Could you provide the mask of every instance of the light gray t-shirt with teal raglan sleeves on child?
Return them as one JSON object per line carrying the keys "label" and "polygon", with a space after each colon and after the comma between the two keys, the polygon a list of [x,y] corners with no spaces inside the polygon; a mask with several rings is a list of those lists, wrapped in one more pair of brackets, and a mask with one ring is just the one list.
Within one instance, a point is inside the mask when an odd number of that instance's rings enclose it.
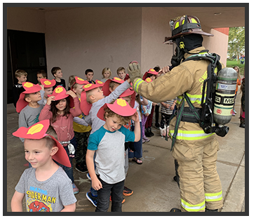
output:
{"label": "light gray t-shirt with teal raglan sleeves on child", "polygon": [[124,143],[134,142],[135,134],[121,126],[110,132],[103,126],[89,137],[87,149],[95,150],[95,173],[107,184],[116,184],[126,178]]}

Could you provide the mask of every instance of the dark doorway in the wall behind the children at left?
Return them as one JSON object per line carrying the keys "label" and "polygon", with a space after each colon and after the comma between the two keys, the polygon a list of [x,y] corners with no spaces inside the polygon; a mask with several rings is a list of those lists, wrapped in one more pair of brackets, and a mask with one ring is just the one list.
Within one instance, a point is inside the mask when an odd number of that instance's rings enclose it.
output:
{"label": "dark doorway in the wall behind the children at left", "polygon": [[45,35],[37,32],[7,30],[7,103],[13,102],[17,69],[27,72],[27,81],[38,83],[36,72],[47,72]]}

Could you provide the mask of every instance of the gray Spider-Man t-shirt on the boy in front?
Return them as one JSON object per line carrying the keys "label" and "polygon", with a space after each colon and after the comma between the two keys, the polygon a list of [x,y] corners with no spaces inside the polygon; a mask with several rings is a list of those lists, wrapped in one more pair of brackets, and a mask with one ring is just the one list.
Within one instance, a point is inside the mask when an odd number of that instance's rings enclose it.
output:
{"label": "gray Spider-Man t-shirt on the boy in front", "polygon": [[36,180],[35,173],[35,168],[26,169],[15,187],[25,194],[27,212],[60,212],[65,205],[76,203],[72,182],[61,167],[43,182]]}

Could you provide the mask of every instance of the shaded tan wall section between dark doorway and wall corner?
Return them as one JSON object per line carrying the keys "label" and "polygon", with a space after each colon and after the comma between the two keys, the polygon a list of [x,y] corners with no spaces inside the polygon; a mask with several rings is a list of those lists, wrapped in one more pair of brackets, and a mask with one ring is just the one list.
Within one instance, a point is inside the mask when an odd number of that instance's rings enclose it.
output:
{"label": "shaded tan wall section between dark doorway and wall corner", "polygon": [[102,79],[102,69],[109,67],[116,76],[118,67],[140,61],[141,8],[76,8],[46,13],[46,55],[48,72],[62,68],[69,75],[85,78],[93,69],[95,79]]}

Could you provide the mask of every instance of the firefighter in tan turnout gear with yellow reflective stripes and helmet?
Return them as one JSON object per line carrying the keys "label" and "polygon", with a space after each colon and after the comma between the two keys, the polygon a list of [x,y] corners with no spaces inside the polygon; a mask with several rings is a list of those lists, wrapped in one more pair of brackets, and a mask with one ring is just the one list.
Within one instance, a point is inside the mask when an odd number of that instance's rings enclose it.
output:
{"label": "firefighter in tan turnout gear with yellow reflective stripes and helmet", "polygon": [[[204,212],[222,208],[222,185],[216,170],[219,144],[215,133],[205,133],[193,116],[187,100],[201,112],[203,81],[207,78],[208,60],[182,60],[191,55],[207,53],[202,46],[203,36],[213,36],[203,32],[196,16],[183,15],[170,20],[172,36],[168,41],[176,45],[171,60],[173,69],[155,81],[142,80],[140,65],[131,62],[128,74],[136,93],[154,102],[163,102],[178,97],[177,116],[170,121],[169,135],[173,140],[172,155],[177,160],[177,172],[180,176],[181,209],[171,212]],[[166,67],[163,69],[165,70]],[[185,95],[189,99],[185,100]],[[187,98],[186,97],[186,98]],[[176,126],[179,109],[184,107],[188,116],[182,116]],[[175,143],[174,143],[175,142]]]}

